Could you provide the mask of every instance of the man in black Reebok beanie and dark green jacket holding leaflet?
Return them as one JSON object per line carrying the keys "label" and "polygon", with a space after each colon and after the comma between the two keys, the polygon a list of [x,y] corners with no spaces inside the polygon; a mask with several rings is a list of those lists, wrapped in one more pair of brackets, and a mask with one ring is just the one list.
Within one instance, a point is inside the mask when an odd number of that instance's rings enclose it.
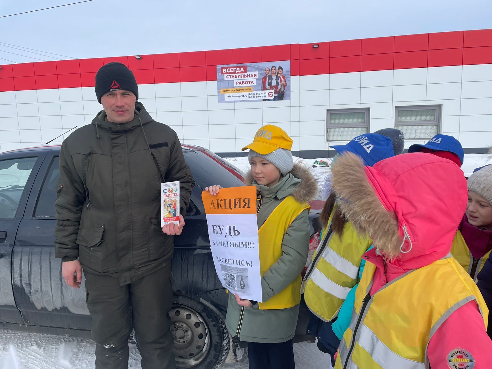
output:
{"label": "man in black Reebok beanie and dark green jacket holding leaflet", "polygon": [[[168,311],[173,235],[195,184],[180,141],[137,102],[121,63],[95,77],[103,109],[62,143],[55,253],[79,288],[84,269],[96,369],[128,368],[128,337],[141,339],[142,368],[175,368]],[[160,183],[180,181],[180,222],[160,227]]]}

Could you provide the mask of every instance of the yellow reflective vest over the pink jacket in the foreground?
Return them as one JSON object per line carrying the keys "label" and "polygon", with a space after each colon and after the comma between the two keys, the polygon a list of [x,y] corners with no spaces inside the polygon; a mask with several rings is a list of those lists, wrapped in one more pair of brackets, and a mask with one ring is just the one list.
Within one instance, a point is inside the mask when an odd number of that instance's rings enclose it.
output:
{"label": "yellow reflective vest over the pink jacket in the foreground", "polygon": [[427,369],[427,345],[449,315],[470,301],[489,311],[476,284],[449,254],[396,278],[370,296],[376,267],[366,263],[335,369]]}

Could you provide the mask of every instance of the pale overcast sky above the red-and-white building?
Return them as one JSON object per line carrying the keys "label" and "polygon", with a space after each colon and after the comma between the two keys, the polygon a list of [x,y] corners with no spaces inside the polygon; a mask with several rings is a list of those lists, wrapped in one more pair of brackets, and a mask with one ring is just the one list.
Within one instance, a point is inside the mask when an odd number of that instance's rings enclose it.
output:
{"label": "pale overcast sky above the red-and-white building", "polygon": [[[76,1],[0,0],[0,16]],[[477,30],[491,14],[491,0],[92,0],[0,18],[0,58],[56,60],[1,43],[81,59]]]}

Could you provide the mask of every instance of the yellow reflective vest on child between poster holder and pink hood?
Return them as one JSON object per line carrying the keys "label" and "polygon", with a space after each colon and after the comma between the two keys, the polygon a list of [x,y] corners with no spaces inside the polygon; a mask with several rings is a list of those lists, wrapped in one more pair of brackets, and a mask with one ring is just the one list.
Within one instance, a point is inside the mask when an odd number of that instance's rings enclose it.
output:
{"label": "yellow reflective vest on child between poster holder and pink hood", "polygon": [[369,237],[357,235],[350,222],[345,223],[342,236],[338,237],[332,229],[335,209],[336,205],[301,289],[309,310],[326,322],[338,315],[347,294],[357,284],[361,258],[372,245]]}

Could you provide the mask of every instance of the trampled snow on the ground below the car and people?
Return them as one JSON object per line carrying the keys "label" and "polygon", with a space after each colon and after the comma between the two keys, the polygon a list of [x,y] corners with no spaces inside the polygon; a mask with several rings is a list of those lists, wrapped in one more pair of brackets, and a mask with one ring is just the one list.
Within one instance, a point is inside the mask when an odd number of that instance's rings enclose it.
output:
{"label": "trampled snow on the ground below the car and people", "polygon": [[[94,368],[94,354],[90,339],[0,330],[0,369],[90,369]],[[314,343],[295,343],[294,356],[297,368],[330,369],[328,355]],[[128,368],[140,369],[134,344],[130,344]],[[247,359],[220,368],[247,369]]]}

